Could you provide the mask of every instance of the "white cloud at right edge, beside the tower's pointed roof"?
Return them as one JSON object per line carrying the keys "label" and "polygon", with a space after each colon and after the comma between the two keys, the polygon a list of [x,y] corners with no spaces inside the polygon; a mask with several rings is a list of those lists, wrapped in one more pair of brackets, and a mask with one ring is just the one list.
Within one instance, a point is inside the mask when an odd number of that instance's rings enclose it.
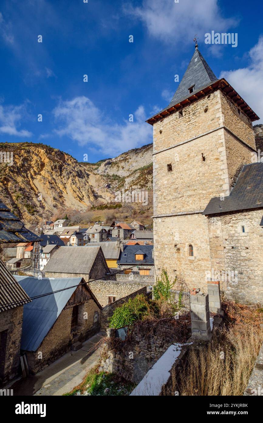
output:
{"label": "white cloud at right edge, beside the tower's pointed roof", "polygon": [[263,123],[263,36],[249,51],[249,65],[246,68],[222,71],[220,78],[225,78],[254,110]]}

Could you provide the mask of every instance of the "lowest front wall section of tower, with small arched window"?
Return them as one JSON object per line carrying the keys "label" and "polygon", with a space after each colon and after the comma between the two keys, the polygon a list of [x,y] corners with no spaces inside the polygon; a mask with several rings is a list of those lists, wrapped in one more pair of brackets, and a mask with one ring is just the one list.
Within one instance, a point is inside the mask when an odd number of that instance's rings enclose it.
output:
{"label": "lowest front wall section of tower, with small arched window", "polygon": [[[189,288],[200,286],[206,292],[206,272],[210,270],[207,219],[202,214],[160,217],[154,220],[155,271],[164,266],[168,275],[182,276]],[[193,245],[193,257],[189,256]]]}

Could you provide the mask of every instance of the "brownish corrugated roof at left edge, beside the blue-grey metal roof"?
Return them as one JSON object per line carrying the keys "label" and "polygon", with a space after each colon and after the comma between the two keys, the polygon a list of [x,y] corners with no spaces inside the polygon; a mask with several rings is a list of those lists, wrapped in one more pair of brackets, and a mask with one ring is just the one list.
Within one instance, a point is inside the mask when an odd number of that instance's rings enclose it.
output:
{"label": "brownish corrugated roof at left edge, beside the blue-grey metal roof", "polygon": [[[10,310],[11,308],[18,307],[30,301],[28,295],[3,264],[3,261],[0,260],[0,312]],[[15,302],[15,304],[8,306],[4,305],[9,302]]]}

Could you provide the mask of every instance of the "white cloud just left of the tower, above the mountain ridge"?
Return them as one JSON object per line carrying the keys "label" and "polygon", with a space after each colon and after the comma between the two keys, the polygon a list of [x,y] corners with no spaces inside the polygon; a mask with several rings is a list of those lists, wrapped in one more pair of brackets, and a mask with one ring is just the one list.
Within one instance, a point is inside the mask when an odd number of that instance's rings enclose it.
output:
{"label": "white cloud just left of the tower, above the mountain ridge", "polygon": [[133,122],[129,122],[127,116],[122,124],[112,122],[85,96],[60,101],[53,113],[60,122],[59,129],[55,130],[58,135],[66,135],[79,146],[96,148],[107,155],[115,156],[152,142],[152,128],[145,123],[143,106],[134,112]]}

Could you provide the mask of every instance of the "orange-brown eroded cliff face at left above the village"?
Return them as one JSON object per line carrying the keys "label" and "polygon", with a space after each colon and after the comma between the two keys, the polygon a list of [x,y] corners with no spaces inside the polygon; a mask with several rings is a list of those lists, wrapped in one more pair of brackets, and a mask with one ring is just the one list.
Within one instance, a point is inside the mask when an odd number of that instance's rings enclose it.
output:
{"label": "orange-brown eroded cliff face at left above the village", "polygon": [[[106,180],[69,154],[33,143],[2,143],[0,198],[26,222],[41,221],[59,209],[87,210],[115,198]],[[9,154],[8,154],[9,153]]]}

